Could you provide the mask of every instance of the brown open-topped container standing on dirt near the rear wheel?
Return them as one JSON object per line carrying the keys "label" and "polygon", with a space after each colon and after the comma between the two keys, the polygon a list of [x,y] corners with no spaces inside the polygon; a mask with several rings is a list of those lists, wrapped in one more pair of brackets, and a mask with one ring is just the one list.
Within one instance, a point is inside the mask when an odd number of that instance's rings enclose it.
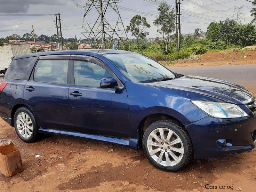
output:
{"label": "brown open-topped container standing on dirt near the rear wheel", "polygon": [[0,146],[0,170],[6,177],[23,171],[20,150],[11,141]]}

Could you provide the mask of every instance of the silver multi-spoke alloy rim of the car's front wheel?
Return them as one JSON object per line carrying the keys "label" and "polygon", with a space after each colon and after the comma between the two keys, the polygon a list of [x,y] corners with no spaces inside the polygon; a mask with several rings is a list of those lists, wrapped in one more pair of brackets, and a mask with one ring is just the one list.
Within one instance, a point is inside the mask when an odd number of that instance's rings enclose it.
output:
{"label": "silver multi-spoke alloy rim of the car's front wheel", "polygon": [[184,154],[184,147],[177,133],[168,128],[157,128],[153,130],[147,140],[148,153],[163,166],[174,166],[178,164]]}

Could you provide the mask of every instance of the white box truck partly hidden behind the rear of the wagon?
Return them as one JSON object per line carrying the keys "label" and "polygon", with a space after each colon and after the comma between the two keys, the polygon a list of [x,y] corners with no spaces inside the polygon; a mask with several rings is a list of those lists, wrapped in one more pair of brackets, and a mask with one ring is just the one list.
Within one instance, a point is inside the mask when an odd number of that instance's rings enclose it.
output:
{"label": "white box truck partly hidden behind the rear of the wagon", "polygon": [[9,44],[0,46],[0,73],[5,73],[10,63],[11,57],[31,53],[29,44]]}

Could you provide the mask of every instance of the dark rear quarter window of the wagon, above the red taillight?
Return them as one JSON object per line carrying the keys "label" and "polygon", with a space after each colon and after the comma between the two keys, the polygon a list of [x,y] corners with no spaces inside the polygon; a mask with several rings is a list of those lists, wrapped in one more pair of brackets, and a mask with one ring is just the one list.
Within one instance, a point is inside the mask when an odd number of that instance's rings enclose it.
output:
{"label": "dark rear quarter window of the wagon, above the red taillight", "polygon": [[12,60],[4,79],[28,80],[38,57]]}

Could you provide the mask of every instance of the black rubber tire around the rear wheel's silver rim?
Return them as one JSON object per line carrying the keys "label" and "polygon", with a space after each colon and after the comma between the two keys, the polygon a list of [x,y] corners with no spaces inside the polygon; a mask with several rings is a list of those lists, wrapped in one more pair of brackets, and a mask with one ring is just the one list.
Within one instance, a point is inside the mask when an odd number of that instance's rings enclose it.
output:
{"label": "black rubber tire around the rear wheel's silver rim", "polygon": [[[23,137],[20,134],[20,132],[18,131],[18,128],[17,128],[17,123],[16,123],[17,122],[17,117],[21,112],[24,112],[24,113],[28,114],[30,120],[32,121],[33,129],[32,129],[32,133],[31,133],[30,137],[28,137],[28,138]],[[32,114],[32,112],[27,107],[18,108],[17,111],[15,112],[15,114],[14,114],[14,128],[15,128],[15,132],[17,133],[19,138],[21,140],[23,140],[24,142],[31,143],[31,142],[34,142],[34,141],[39,139],[39,133],[38,133],[38,127],[37,127],[37,124],[36,124],[36,119],[35,119],[34,115]]]}

